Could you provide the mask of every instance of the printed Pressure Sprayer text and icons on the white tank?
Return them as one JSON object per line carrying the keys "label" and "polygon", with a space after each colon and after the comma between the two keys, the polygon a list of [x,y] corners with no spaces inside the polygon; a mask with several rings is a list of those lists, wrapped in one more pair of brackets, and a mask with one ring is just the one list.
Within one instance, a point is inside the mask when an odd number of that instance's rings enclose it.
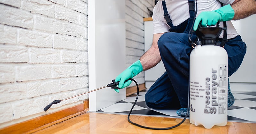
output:
{"label": "printed Pressure Sprayer text and icons on the white tank", "polygon": [[[211,76],[205,78],[204,84],[190,81],[190,99],[196,100],[197,98],[204,98],[203,100],[205,100],[205,114],[225,114],[227,112],[226,92],[226,65],[219,65],[218,69],[212,68]],[[195,109],[193,109],[192,112],[195,112]]]}

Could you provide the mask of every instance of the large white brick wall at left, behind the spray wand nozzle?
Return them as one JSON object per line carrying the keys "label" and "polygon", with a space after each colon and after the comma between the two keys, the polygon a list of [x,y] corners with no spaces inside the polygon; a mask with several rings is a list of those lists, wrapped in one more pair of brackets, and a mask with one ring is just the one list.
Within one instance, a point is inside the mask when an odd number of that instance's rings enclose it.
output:
{"label": "large white brick wall at left, behind the spray wand nozzle", "polygon": [[0,128],[88,99],[43,110],[88,91],[87,0],[0,0],[0,9]]}

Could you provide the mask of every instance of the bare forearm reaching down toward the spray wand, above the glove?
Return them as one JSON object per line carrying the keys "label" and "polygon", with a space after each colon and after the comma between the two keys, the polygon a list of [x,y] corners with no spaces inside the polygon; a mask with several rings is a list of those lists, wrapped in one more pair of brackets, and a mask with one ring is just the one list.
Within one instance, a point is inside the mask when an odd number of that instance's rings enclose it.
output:
{"label": "bare forearm reaching down toward the spray wand, above the glove", "polygon": [[142,64],[143,71],[156,66],[161,61],[157,42],[160,36],[163,34],[164,33],[154,34],[151,48],[149,48],[148,51],[140,57],[140,63]]}

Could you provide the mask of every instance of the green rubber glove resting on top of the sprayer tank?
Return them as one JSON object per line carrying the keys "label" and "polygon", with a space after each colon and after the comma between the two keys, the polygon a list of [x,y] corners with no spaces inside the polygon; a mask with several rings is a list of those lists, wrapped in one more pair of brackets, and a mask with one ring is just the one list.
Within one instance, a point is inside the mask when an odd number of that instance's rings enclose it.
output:
{"label": "green rubber glove resting on top of the sprayer tank", "polygon": [[232,20],[234,15],[235,11],[231,7],[231,5],[225,5],[214,11],[201,12],[195,20],[193,29],[194,31],[197,30],[200,21],[202,21],[201,25],[203,27],[214,26],[217,24],[218,21]]}

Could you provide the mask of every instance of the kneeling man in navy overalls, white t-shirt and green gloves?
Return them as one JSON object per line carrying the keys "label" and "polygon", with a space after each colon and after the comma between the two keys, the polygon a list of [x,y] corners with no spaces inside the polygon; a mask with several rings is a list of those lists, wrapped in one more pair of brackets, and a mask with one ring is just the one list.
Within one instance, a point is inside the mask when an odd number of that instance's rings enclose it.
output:
{"label": "kneeling man in navy overalls, white t-shirt and green gloves", "polygon": [[[221,6],[221,3],[224,6]],[[191,43],[188,34],[198,25],[214,26],[218,21],[227,21],[227,38],[224,49],[228,53],[228,77],[241,65],[246,52],[242,41],[230,20],[237,20],[256,14],[255,0],[198,0],[197,14],[193,25],[195,10],[194,0],[159,1],[153,10],[154,35],[151,48],[138,61],[116,77],[120,81],[118,87],[125,88],[141,71],[148,70],[161,60],[166,72],[158,78],[145,95],[148,107],[154,109],[186,110],[188,104],[189,55]],[[163,16],[164,15],[164,16]],[[168,16],[169,15],[169,16]],[[223,27],[223,23],[220,23]],[[217,39],[222,41],[223,34]],[[196,36],[191,36],[193,41]],[[229,82],[228,82],[229,85]],[[119,92],[118,90],[116,90]],[[228,107],[234,103],[234,97],[228,89]]]}

